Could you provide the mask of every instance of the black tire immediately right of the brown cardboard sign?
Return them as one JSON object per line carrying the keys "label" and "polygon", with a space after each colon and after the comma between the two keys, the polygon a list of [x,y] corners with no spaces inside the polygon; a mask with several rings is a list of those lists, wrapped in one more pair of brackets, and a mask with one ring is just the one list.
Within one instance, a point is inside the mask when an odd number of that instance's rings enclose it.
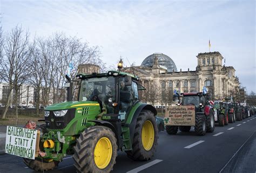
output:
{"label": "black tire immediately right of the brown cardboard sign", "polygon": [[206,134],[206,117],[204,114],[196,114],[196,125],[194,126],[194,131],[200,136],[204,136]]}

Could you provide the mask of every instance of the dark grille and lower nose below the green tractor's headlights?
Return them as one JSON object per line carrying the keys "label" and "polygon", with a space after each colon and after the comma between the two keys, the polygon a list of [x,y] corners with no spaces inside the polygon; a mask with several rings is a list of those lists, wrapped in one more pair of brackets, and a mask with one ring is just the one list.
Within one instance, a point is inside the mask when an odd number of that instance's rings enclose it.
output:
{"label": "dark grille and lower nose below the green tractor's headlights", "polygon": [[66,115],[56,117],[53,111],[50,111],[50,115],[45,117],[45,124],[48,129],[64,129],[68,123],[75,117],[76,108],[68,109]]}

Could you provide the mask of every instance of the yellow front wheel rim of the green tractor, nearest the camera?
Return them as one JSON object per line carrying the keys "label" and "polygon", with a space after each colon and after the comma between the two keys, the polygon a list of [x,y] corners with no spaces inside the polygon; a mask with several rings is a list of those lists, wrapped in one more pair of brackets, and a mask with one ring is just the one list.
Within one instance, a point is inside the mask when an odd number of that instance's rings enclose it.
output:
{"label": "yellow front wheel rim of the green tractor, nearest the camera", "polygon": [[109,165],[112,157],[112,144],[107,137],[98,140],[94,150],[94,161],[99,169],[104,169]]}

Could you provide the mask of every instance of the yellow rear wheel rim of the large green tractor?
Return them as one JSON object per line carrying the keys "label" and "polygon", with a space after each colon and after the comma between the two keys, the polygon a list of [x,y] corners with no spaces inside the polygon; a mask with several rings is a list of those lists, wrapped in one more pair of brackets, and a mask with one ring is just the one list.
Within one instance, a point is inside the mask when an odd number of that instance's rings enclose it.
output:
{"label": "yellow rear wheel rim of the large green tractor", "polygon": [[146,151],[151,150],[154,143],[154,127],[151,121],[144,122],[142,127],[142,145]]}

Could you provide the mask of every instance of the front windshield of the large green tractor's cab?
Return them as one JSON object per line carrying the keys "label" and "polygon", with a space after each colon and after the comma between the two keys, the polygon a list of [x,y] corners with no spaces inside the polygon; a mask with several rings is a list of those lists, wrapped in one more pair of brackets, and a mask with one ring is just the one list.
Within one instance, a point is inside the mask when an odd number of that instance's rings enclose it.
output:
{"label": "front windshield of the large green tractor's cab", "polygon": [[113,77],[89,78],[82,80],[79,101],[102,101],[116,99],[115,82]]}

